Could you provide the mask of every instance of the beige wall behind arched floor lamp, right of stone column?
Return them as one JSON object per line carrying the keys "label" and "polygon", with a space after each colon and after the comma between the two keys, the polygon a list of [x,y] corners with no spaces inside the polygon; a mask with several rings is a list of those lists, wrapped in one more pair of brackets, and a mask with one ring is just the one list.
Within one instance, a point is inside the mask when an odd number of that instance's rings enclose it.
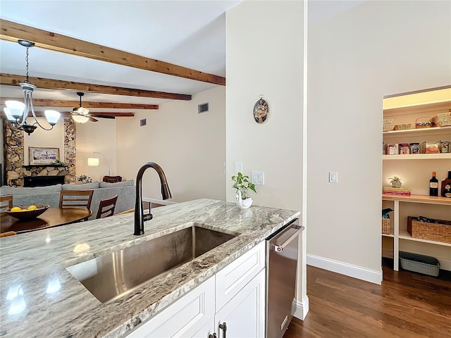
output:
{"label": "beige wall behind arched floor lamp, right of stone column", "polygon": [[[101,182],[105,175],[108,175],[108,165],[100,154],[92,154],[99,151],[108,159],[111,168],[111,176],[122,175],[116,170],[116,119],[97,118],[98,122],[75,123],[77,132],[77,148],[75,153],[75,163],[77,176],[85,174],[94,181]],[[99,158],[99,166],[89,167],[87,158]],[[124,177],[128,180],[132,177]]]}

